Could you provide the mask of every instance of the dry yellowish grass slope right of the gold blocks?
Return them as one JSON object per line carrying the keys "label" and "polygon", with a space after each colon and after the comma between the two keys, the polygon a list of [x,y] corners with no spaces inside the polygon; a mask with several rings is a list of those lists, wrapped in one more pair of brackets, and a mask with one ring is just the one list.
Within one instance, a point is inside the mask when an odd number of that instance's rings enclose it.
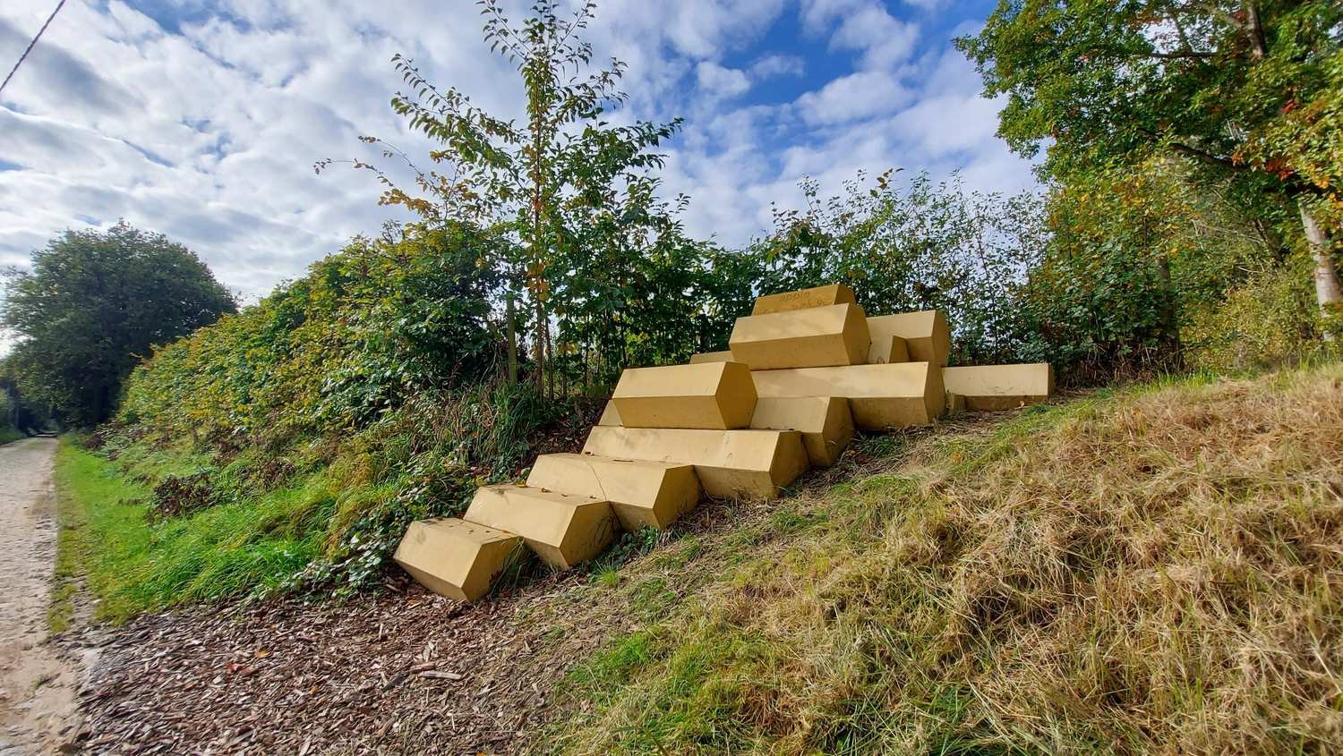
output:
{"label": "dry yellowish grass slope right of the gold blocks", "polygon": [[1343,368],[1037,408],[886,467],[594,583],[584,622],[624,632],[535,747],[1343,749]]}

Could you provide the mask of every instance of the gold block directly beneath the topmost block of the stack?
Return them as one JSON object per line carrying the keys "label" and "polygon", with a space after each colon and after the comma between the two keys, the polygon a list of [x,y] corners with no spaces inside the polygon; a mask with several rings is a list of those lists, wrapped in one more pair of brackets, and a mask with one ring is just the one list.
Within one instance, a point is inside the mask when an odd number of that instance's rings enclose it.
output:
{"label": "gold block directly beneath the topmost block of the stack", "polygon": [[833,305],[737,318],[732,357],[752,371],[860,365],[868,361],[868,321],[858,305]]}

